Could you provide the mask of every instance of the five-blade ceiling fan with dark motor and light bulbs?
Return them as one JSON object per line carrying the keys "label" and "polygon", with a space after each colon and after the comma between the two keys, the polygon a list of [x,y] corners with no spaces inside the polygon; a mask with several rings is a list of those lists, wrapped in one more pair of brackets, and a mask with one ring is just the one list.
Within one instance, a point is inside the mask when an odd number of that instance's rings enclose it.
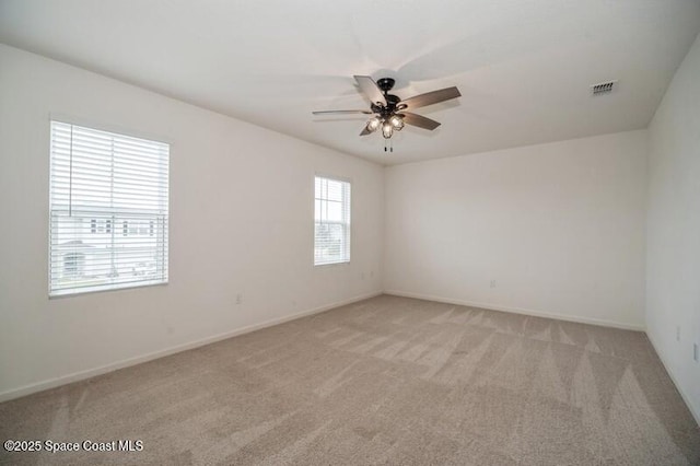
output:
{"label": "five-blade ceiling fan with dark motor and light bulbs", "polygon": [[[369,110],[318,110],[314,115],[330,114],[365,114],[373,115],[366,123],[360,136],[370,135],[382,128],[384,139],[390,139],[394,131],[400,131],[404,125],[412,125],[419,128],[433,130],[440,123],[421,115],[413,114],[413,108],[438,104],[462,96],[457,88],[445,88],[425,94],[415,95],[401,101],[398,96],[389,94],[395,81],[392,78],[382,78],[374,82],[370,77],[355,75],[354,80],[360,85],[362,93],[370,100]],[[386,149],[386,148],[385,148]]]}

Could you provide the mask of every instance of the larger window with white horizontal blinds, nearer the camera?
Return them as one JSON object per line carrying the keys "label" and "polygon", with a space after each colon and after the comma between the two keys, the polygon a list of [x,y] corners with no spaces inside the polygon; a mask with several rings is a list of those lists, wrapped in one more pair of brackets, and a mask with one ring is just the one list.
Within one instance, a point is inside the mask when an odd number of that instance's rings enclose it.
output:
{"label": "larger window with white horizontal blinds, nearer the camera", "polygon": [[167,282],[170,145],[51,121],[49,295]]}

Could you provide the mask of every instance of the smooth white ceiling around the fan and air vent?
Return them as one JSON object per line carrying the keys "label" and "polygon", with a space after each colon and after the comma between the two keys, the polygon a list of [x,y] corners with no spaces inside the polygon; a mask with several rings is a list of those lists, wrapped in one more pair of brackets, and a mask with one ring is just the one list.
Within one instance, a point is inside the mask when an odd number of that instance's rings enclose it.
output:
{"label": "smooth white ceiling around the fan and air vent", "polygon": [[[0,0],[0,42],[383,164],[644,128],[698,31],[698,0]],[[385,153],[311,114],[368,108],[353,74],[463,96]]]}

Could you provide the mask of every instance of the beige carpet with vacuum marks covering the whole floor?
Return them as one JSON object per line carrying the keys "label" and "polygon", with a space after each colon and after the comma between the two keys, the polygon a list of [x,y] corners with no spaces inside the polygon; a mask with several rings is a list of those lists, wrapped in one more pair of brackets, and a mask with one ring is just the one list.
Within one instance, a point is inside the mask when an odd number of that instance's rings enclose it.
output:
{"label": "beige carpet with vacuum marks covering the whole floor", "polygon": [[0,405],[8,464],[698,465],[642,333],[378,296]]}

